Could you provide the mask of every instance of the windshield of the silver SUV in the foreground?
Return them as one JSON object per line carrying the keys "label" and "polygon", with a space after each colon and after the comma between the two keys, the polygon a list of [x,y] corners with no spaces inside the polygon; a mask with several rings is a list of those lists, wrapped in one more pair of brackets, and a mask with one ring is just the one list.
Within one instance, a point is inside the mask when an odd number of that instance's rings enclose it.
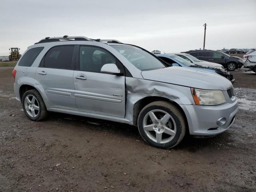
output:
{"label": "windshield of the silver SUV in the foreground", "polygon": [[166,67],[157,58],[138,47],[127,45],[112,45],[112,47],[139,70],[146,71]]}

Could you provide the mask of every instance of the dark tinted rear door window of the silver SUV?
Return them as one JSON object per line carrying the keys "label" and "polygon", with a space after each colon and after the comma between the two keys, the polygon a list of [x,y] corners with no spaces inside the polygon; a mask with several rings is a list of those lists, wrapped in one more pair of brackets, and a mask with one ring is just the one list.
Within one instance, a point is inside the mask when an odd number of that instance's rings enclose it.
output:
{"label": "dark tinted rear door window of the silver SUV", "polygon": [[44,57],[46,68],[74,70],[72,64],[74,46],[56,46],[51,48]]}

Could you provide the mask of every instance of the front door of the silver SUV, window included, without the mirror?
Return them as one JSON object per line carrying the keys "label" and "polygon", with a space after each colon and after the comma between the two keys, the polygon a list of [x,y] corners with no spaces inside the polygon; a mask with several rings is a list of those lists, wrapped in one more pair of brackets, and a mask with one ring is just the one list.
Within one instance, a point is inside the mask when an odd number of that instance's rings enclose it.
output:
{"label": "front door of the silver SUV, window included, without the mirror", "polygon": [[76,54],[74,86],[79,111],[124,118],[125,76],[104,74],[104,64],[122,64],[107,50],[94,46],[79,46]]}

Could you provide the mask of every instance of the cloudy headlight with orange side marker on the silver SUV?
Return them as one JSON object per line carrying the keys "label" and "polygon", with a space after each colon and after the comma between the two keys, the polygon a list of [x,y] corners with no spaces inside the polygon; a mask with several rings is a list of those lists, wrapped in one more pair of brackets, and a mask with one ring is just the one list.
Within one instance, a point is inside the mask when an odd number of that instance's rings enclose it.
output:
{"label": "cloudy headlight with orange side marker on the silver SUV", "polygon": [[226,102],[221,90],[203,90],[191,88],[196,105],[220,105]]}

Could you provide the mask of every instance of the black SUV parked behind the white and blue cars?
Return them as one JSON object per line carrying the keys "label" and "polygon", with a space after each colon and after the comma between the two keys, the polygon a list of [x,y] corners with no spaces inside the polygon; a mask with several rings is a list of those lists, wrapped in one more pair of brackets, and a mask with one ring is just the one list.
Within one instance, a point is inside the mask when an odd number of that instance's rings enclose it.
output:
{"label": "black SUV parked behind the white and blue cars", "polygon": [[184,53],[188,53],[199,60],[209,61],[213,63],[219,63],[224,66],[224,68],[233,71],[236,68],[241,68],[242,63],[239,62],[236,58],[229,56],[220,51],[214,50],[190,50]]}

